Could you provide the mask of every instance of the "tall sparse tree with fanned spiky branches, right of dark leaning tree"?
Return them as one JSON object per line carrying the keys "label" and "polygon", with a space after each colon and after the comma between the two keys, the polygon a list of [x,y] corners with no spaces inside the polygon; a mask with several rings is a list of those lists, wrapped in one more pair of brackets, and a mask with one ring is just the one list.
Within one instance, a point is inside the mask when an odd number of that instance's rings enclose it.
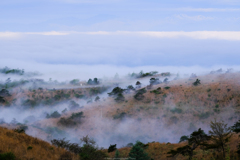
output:
{"label": "tall sparse tree with fanned spiky branches, right of dark leaning tree", "polygon": [[230,127],[227,127],[227,124],[224,121],[217,122],[216,119],[211,121],[209,135],[211,136],[211,144],[207,145],[206,149],[216,149],[219,152],[222,152],[222,156],[225,158],[225,152],[227,143],[232,136],[232,130]]}

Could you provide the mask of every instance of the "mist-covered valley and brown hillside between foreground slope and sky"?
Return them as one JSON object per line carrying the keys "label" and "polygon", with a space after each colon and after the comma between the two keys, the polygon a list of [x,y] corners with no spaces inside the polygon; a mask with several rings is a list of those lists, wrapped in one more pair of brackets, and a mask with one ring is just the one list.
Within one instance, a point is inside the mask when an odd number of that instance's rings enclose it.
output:
{"label": "mist-covered valley and brown hillside between foreground slope and sky", "polygon": [[[104,148],[137,140],[177,143],[216,118],[239,117],[239,76],[233,69],[208,73],[132,72],[86,80],[41,79],[39,72],[1,69],[0,124],[25,128],[50,142],[79,143],[88,135]],[[197,81],[199,80],[199,81]]]}

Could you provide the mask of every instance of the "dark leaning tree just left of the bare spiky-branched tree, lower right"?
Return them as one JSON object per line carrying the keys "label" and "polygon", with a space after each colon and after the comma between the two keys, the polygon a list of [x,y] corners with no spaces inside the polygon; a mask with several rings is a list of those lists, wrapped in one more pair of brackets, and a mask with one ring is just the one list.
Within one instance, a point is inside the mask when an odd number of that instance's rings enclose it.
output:
{"label": "dark leaning tree just left of the bare spiky-branched tree, lower right", "polygon": [[209,140],[209,136],[205,134],[201,128],[199,128],[198,131],[194,131],[190,135],[190,138],[182,136],[180,138],[180,142],[183,140],[187,140],[188,144],[183,147],[179,147],[176,150],[171,150],[168,152],[168,154],[171,154],[168,157],[174,157],[182,154],[183,156],[189,156],[188,159],[191,160],[193,157],[193,151],[199,146],[205,146],[206,142]]}

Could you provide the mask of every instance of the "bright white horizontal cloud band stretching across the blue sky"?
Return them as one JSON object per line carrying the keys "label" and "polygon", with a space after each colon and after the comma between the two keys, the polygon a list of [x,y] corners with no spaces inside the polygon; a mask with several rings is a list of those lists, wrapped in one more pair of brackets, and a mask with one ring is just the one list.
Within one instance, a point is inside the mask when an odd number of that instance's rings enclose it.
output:
{"label": "bright white horizontal cloud band stretching across the blue sky", "polygon": [[[199,17],[202,19],[202,17]],[[0,38],[17,38],[23,35],[43,35],[43,36],[66,36],[66,35],[121,35],[121,36],[149,36],[155,38],[192,38],[192,39],[217,39],[217,40],[240,40],[240,31],[193,31],[193,32],[132,32],[132,31],[116,31],[116,32],[0,32]]]}

